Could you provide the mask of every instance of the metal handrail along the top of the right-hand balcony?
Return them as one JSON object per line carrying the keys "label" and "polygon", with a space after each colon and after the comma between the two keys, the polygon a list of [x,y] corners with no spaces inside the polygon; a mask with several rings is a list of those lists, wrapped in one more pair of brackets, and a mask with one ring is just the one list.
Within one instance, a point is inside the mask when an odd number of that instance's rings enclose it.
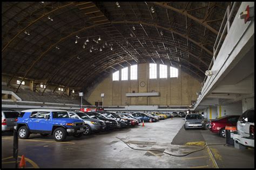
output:
{"label": "metal handrail along the top of the right-hand balcony", "polygon": [[[230,23],[230,20],[231,20],[231,18],[233,16],[234,9],[235,9],[236,5],[237,5],[237,2],[234,2],[231,11],[230,11],[230,5],[227,6],[227,9],[225,11],[225,15],[223,17],[223,21],[221,22],[221,25],[220,25],[220,29],[219,29],[217,38],[216,38],[215,43],[213,45],[213,57],[212,57],[210,65],[208,67],[208,70],[211,70],[211,68],[212,68],[212,66],[213,66],[213,64],[215,62],[215,56],[218,55],[218,52],[219,52],[219,49],[220,49],[220,42],[221,42],[221,40],[223,39],[225,33],[226,32],[228,33],[228,31],[230,30],[230,25],[232,24],[232,23]],[[227,19],[227,21],[226,21],[226,24],[225,24],[224,29],[223,29],[223,24],[224,24],[225,19]],[[222,33],[220,35],[220,32],[221,32],[222,29],[223,29],[223,31],[222,31]],[[220,36],[220,38],[219,38],[219,36]],[[217,45],[217,47],[216,47],[216,45]],[[204,80],[201,83],[200,92],[202,92],[202,90],[203,90],[203,87],[204,87],[205,81],[207,80],[207,77],[208,76],[205,76]],[[200,97],[200,94],[198,95],[196,104],[199,101],[199,97]]]}

